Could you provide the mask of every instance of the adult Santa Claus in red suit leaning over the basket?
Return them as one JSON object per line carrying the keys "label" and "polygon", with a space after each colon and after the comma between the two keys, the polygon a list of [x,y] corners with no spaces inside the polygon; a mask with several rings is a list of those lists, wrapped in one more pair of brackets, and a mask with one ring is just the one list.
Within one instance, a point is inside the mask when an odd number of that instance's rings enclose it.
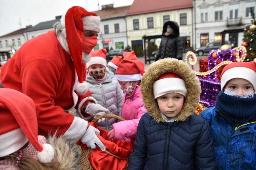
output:
{"label": "adult Santa Claus in red suit leaning over the basket", "polygon": [[105,146],[95,133],[99,131],[82,118],[69,114],[76,108],[81,114],[106,114],[108,109],[91,97],[85,63],[97,44],[100,18],[81,7],[69,8],[54,30],[24,43],[1,67],[2,87],[18,90],[36,104],[39,135],[63,135],[69,143],[81,139],[92,149]]}

